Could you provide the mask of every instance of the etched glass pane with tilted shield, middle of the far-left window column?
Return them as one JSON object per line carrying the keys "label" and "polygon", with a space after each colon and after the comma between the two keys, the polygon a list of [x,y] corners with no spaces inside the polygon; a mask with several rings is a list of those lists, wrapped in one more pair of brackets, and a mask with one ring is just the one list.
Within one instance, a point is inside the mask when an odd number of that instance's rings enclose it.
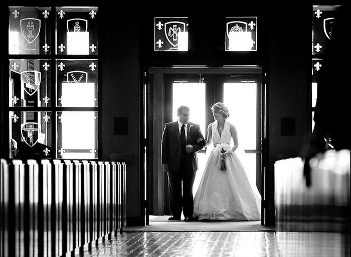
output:
{"label": "etched glass pane with tilted shield, middle of the far-left window column", "polygon": [[50,60],[9,60],[9,106],[51,106]]}

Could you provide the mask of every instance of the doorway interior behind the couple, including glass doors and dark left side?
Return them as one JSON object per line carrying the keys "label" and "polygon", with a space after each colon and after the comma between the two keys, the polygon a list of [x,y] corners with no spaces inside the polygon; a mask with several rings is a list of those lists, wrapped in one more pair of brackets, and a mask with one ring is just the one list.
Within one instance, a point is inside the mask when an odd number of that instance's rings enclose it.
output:
{"label": "doorway interior behind the couple, including glass doors and dark left side", "polygon": [[[238,130],[236,153],[243,162],[251,183],[263,195],[264,159],[262,136],[264,95],[261,67],[156,67],[149,70],[149,142],[148,185],[151,215],[169,215],[167,180],[160,163],[160,143],[165,122],[177,119],[177,108],[187,105],[190,120],[200,124],[204,136],[213,116],[210,107],[218,101],[230,110],[230,122]],[[199,170],[194,193],[206,164],[205,149],[198,153]]]}

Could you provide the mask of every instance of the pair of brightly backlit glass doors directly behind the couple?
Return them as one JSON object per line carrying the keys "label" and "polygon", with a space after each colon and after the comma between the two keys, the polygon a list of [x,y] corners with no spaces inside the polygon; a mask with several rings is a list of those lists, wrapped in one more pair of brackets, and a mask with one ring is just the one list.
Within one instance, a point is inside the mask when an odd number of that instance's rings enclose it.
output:
{"label": "pair of brightly backlit glass doors directly behind the couple", "polygon": [[[261,192],[260,75],[191,74],[165,77],[165,109],[168,110],[165,122],[177,120],[177,108],[187,105],[190,107],[190,121],[200,124],[206,138],[207,125],[214,120],[210,107],[221,101],[229,108],[228,119],[238,131],[239,148],[236,153],[250,182],[256,184]],[[206,164],[205,150],[198,153],[198,158],[194,193]]]}

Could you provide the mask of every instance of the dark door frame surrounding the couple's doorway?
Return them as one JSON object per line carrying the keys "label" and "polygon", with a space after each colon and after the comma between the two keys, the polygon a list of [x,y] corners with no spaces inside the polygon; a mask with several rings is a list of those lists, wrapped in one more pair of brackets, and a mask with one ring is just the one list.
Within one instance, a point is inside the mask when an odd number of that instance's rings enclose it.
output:
{"label": "dark door frame surrounding the couple's doorway", "polygon": [[[144,108],[147,109],[148,118],[146,121],[146,134],[147,140],[145,143],[146,147],[146,186],[147,194],[146,199],[148,202],[145,204],[147,207],[145,211],[146,220],[148,220],[148,215],[163,215],[167,210],[167,206],[164,204],[164,199],[168,197],[167,192],[163,189],[165,188],[166,178],[161,167],[160,160],[160,139],[163,131],[163,125],[166,121],[166,116],[169,116],[169,110],[166,108],[165,101],[165,78],[166,74],[181,74],[182,76],[190,76],[193,74],[231,74],[233,76],[256,74],[261,75],[261,224],[265,224],[265,218],[267,217],[267,209],[269,206],[265,204],[265,194],[267,188],[265,184],[269,176],[265,175],[268,170],[266,167],[266,83],[265,83],[265,73],[263,72],[262,66],[248,65],[248,66],[226,66],[226,67],[199,67],[199,66],[182,66],[182,67],[148,67],[147,69],[147,83],[148,87],[145,87],[146,95],[148,95],[148,100],[144,101]],[[198,78],[199,79],[199,78]],[[215,99],[213,99],[215,100]],[[213,103],[214,101],[212,101]],[[268,183],[269,184],[269,183]],[[169,208],[168,208],[169,209]],[[148,222],[147,222],[148,223]]]}

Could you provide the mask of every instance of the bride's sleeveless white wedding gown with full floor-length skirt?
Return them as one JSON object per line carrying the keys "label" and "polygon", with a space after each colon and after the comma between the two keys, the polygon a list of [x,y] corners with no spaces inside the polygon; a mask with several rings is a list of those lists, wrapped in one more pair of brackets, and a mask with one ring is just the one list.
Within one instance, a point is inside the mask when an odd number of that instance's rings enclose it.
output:
{"label": "bride's sleeveless white wedding gown with full floor-length skirt", "polygon": [[235,152],[225,159],[226,170],[221,170],[222,147],[231,151],[228,120],[221,135],[218,122],[212,124],[212,139],[215,146],[194,197],[193,216],[199,220],[260,220],[261,195],[257,187],[250,184]]}

